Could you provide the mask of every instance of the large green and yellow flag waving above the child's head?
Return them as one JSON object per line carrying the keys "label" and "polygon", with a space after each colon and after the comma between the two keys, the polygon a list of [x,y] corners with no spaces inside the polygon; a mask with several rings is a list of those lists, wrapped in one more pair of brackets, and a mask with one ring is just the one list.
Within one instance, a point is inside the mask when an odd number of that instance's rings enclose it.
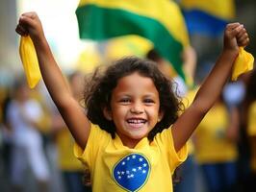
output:
{"label": "large green and yellow flag waving above the child's head", "polygon": [[81,0],[76,10],[81,38],[143,36],[185,79],[181,52],[189,36],[178,5],[170,0]]}

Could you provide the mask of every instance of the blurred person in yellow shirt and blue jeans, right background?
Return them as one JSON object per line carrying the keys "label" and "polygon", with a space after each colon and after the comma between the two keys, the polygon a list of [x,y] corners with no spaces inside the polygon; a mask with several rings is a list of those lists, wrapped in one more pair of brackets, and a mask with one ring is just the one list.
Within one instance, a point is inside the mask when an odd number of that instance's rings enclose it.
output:
{"label": "blurred person in yellow shirt and blue jeans, right background", "polygon": [[210,192],[232,191],[237,179],[238,118],[231,120],[222,99],[205,115],[193,134],[194,155]]}

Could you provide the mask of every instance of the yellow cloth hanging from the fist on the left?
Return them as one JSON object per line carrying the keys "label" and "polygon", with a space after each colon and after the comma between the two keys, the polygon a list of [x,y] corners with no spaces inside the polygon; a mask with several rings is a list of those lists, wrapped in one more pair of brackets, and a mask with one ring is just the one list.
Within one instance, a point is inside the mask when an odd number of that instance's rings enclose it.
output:
{"label": "yellow cloth hanging from the fist on the left", "polygon": [[27,83],[30,88],[34,88],[41,79],[41,74],[38,65],[37,53],[30,36],[21,36],[19,55],[24,67]]}

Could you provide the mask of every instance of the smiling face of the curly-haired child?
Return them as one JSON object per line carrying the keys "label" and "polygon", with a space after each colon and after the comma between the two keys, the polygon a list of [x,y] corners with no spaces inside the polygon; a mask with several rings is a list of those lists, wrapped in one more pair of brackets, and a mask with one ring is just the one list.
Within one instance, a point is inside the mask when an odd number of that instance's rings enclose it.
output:
{"label": "smiling face of the curly-haired child", "polygon": [[105,108],[104,114],[115,122],[123,144],[135,147],[163,117],[155,84],[139,73],[121,78],[112,93],[111,110]]}

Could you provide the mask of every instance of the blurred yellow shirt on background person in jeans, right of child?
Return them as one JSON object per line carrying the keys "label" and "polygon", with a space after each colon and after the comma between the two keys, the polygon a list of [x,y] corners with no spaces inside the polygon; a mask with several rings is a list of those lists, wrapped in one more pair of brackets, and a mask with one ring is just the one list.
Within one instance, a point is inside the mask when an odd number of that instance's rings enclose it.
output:
{"label": "blurred yellow shirt on background person in jeans, right of child", "polygon": [[198,163],[218,163],[237,158],[236,144],[225,136],[228,111],[217,104],[206,114],[194,132],[194,154]]}

